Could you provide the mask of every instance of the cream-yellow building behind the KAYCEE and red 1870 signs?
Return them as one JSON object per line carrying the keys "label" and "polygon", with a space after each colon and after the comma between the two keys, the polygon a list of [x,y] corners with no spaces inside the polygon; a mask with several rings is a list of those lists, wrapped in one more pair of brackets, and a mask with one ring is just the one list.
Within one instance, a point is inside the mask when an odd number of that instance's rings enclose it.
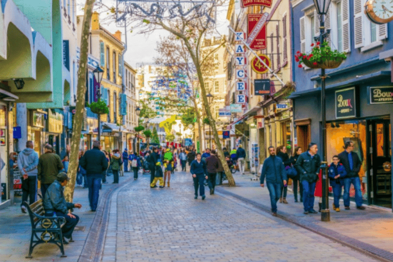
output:
{"label": "cream-yellow building behind the KAYCEE and red 1870 signs", "polygon": [[[293,91],[290,62],[291,23],[289,2],[272,0],[271,8],[263,6],[242,8],[240,3],[231,0],[227,19],[236,32],[243,31],[247,34],[247,15],[265,12],[269,14],[266,25],[266,49],[256,51],[256,53],[258,55],[264,54],[269,58],[270,68],[276,76],[269,71],[264,74],[255,72],[251,66],[255,55],[246,48],[244,56],[247,60],[248,104],[246,104],[246,110],[237,114],[237,118],[233,122],[233,124],[242,123],[243,134],[237,137],[236,145],[238,143],[243,144],[248,153],[247,160],[250,162],[251,171],[255,172],[259,164],[263,163],[266,156],[269,156],[269,146],[276,148],[279,145],[288,145],[288,153],[290,154],[291,147],[295,144],[293,141],[292,101],[286,99],[289,93]],[[240,22],[236,23],[236,21]],[[236,43],[240,43],[235,41],[233,33],[229,35],[229,42],[233,47]],[[227,82],[227,103],[231,103],[234,101],[233,95],[236,94],[234,83],[238,81],[234,76],[237,67],[233,60],[240,55],[227,52],[225,56],[227,62],[232,61],[231,64],[228,63],[228,67],[231,68],[227,68],[228,79],[230,79]],[[255,79],[270,80],[269,96],[255,95]],[[231,144],[231,146],[233,147],[234,144]]]}

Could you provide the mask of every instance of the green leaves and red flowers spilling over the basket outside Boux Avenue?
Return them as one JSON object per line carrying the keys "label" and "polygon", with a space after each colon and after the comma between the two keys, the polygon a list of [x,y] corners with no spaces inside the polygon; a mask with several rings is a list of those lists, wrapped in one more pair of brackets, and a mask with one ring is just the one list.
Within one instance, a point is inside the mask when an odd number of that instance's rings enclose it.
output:
{"label": "green leaves and red flowers spilling over the basket outside Boux Avenue", "polygon": [[311,54],[302,54],[300,51],[296,52],[295,61],[299,63],[299,68],[302,67],[301,63],[304,63],[304,60],[308,60],[314,65],[317,65],[326,60],[342,61],[346,59],[346,52],[332,50],[326,40],[323,41],[322,45],[320,45],[320,42],[316,42],[316,44],[312,43],[311,46],[313,47]]}

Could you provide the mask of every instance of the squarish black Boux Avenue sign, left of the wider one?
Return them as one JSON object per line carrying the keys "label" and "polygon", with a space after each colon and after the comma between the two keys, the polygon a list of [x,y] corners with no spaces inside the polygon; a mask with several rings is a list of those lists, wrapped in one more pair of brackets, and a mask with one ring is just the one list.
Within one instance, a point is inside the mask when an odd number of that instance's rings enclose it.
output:
{"label": "squarish black Boux Avenue sign, left of the wider one", "polygon": [[355,88],[335,92],[336,118],[356,117]]}

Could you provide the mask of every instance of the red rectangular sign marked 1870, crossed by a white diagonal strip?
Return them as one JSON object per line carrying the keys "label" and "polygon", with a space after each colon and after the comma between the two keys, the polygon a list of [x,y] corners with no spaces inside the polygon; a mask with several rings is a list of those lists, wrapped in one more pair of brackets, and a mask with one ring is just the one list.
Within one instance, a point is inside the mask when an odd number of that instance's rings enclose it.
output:
{"label": "red rectangular sign marked 1870, crossed by a white diagonal strip", "polygon": [[266,49],[266,20],[269,14],[247,15],[247,45],[253,50]]}

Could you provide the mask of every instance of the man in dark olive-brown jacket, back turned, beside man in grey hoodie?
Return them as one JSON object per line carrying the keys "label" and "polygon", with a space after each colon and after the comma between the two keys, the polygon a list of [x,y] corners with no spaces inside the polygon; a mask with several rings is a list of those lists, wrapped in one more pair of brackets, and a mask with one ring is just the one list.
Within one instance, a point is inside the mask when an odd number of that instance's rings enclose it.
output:
{"label": "man in dark olive-brown jacket, back turned, beside man in grey hoodie", "polygon": [[37,169],[37,178],[41,182],[42,198],[45,199],[48,187],[56,180],[59,171],[63,169],[60,157],[53,153],[50,144],[45,145],[45,154],[39,157]]}

